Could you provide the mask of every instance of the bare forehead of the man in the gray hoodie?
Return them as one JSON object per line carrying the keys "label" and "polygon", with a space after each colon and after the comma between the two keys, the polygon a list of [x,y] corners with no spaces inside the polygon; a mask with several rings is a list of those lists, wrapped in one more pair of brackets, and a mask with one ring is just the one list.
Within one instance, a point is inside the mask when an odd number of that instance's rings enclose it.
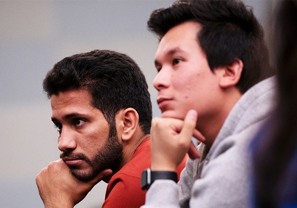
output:
{"label": "bare forehead of the man in the gray hoodie", "polygon": [[171,28],[161,39],[155,58],[172,55],[174,52],[186,52],[200,49],[198,32],[202,25],[198,22],[185,22]]}

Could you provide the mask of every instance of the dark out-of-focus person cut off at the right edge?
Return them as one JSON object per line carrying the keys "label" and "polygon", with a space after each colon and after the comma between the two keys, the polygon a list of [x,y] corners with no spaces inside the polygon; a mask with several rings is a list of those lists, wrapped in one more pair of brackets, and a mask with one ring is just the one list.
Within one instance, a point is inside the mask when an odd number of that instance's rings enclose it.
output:
{"label": "dark out-of-focus person cut off at the right edge", "polygon": [[275,24],[277,106],[251,143],[253,207],[297,208],[297,1],[280,1]]}

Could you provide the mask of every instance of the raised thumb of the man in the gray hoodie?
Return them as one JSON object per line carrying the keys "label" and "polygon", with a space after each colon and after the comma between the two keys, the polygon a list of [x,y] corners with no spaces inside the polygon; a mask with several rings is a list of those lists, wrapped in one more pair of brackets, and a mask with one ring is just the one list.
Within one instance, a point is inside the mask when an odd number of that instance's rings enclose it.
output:
{"label": "raised thumb of the man in the gray hoodie", "polygon": [[181,135],[183,138],[189,138],[193,136],[193,131],[196,127],[197,122],[197,111],[189,110],[185,116],[183,128],[181,130]]}

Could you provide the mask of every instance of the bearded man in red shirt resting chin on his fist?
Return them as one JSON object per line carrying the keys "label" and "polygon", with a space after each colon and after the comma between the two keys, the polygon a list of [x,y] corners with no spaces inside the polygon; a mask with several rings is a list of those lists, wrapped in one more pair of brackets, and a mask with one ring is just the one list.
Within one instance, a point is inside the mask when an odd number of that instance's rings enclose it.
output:
{"label": "bearded man in red shirt resting chin on his fist", "polygon": [[102,207],[143,205],[152,111],[135,61],[107,50],[75,54],[49,70],[43,88],[61,151],[36,178],[45,207],[73,207],[101,180],[108,183]]}

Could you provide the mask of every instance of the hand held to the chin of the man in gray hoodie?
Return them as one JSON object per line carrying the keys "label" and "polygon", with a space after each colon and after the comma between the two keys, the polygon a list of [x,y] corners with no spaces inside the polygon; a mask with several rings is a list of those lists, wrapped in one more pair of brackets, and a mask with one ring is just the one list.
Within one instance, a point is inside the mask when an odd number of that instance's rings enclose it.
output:
{"label": "hand held to the chin of the man in gray hoodie", "polygon": [[[195,128],[197,121],[196,110],[189,110],[184,121],[172,118],[155,118],[152,121],[151,137],[156,139],[151,144],[152,170],[176,171],[184,156],[188,153],[192,159],[200,157],[191,138],[199,141],[205,138]],[[165,138],[165,139],[164,139]],[[170,138],[170,139],[166,139]],[[168,151],[164,151],[164,150]],[[176,154],[178,151],[179,154]],[[159,161],[167,161],[160,162]]]}

